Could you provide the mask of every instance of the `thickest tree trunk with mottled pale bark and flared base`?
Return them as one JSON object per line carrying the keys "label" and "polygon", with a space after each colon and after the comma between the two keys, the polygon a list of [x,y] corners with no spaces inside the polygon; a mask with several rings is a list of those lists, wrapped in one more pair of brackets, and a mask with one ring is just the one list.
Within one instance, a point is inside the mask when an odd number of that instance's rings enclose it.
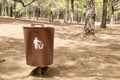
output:
{"label": "thickest tree trunk with mottled pale bark and flared base", "polygon": [[94,34],[95,22],[95,1],[86,0],[86,14],[85,14],[85,34]]}

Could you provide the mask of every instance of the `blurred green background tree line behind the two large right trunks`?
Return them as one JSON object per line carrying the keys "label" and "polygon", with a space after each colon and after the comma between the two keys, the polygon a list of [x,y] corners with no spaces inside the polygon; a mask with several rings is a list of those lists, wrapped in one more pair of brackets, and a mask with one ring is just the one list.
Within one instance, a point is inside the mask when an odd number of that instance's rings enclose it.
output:
{"label": "blurred green background tree line behind the two large right trunks", "polygon": [[[103,0],[95,0],[96,21],[101,21]],[[0,0],[0,15],[10,17],[42,17],[84,21],[85,0]],[[120,18],[120,0],[108,0],[107,21],[113,23]],[[53,15],[53,16],[52,16]],[[38,19],[38,18],[36,18]]]}

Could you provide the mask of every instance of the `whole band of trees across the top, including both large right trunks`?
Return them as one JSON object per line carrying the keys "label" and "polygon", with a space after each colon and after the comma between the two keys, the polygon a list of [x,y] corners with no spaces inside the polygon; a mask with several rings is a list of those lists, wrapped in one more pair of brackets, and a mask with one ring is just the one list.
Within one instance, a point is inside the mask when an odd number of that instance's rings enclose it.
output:
{"label": "whole band of trees across the top, including both large right trunks", "polygon": [[0,16],[85,22],[85,32],[92,33],[95,21],[102,28],[120,22],[120,0],[0,0]]}

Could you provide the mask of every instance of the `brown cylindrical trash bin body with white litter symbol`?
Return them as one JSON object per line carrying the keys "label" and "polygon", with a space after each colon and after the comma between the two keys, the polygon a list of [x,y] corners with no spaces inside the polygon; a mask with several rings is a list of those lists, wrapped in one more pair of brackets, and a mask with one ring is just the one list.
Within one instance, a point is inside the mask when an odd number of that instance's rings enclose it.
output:
{"label": "brown cylindrical trash bin body with white litter symbol", "polygon": [[53,63],[54,28],[24,27],[24,42],[28,65],[43,67]]}

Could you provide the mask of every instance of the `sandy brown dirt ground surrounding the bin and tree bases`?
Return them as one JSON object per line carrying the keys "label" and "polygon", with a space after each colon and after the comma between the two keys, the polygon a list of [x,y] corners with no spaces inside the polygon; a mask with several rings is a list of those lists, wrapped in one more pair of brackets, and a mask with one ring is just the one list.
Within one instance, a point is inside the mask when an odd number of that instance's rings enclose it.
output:
{"label": "sandy brown dirt ground surrounding the bin and tree bases", "polygon": [[[32,22],[32,21],[31,21]],[[96,38],[84,38],[83,25],[53,25],[54,63],[46,76],[26,65],[23,26],[28,21],[0,18],[0,80],[120,80],[120,25],[96,27]]]}

